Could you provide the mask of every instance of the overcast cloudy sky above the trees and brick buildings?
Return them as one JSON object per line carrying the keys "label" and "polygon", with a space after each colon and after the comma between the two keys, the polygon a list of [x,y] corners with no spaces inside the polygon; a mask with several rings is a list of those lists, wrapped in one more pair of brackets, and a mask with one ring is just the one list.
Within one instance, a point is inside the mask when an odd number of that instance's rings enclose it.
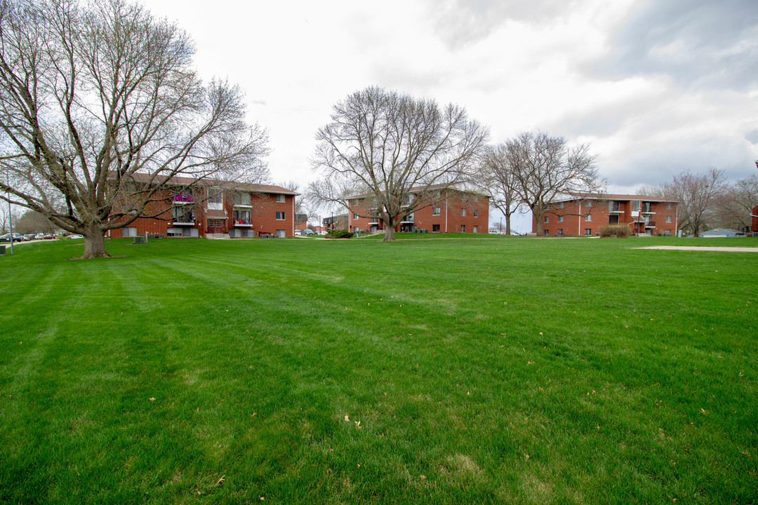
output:
{"label": "overcast cloudy sky above the trees and brick buildings", "polygon": [[454,102],[492,141],[588,142],[614,192],[684,169],[756,173],[756,0],[150,0],[204,78],[244,90],[274,182],[313,179],[330,108],[384,86]]}

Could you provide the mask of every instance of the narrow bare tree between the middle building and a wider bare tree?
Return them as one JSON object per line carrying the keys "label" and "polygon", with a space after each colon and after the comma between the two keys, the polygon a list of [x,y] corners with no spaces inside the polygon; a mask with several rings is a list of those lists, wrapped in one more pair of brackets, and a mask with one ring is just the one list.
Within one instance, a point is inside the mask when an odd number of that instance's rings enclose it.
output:
{"label": "narrow bare tree between the middle building and a wider bare tree", "polygon": [[[505,144],[488,146],[481,157],[481,176],[477,185],[490,194],[490,205],[506,217],[505,232],[511,234],[511,216],[518,211],[522,200],[518,193],[516,173],[508,163],[508,148]],[[500,226],[502,228],[502,226]],[[496,227],[499,232],[503,229]]]}

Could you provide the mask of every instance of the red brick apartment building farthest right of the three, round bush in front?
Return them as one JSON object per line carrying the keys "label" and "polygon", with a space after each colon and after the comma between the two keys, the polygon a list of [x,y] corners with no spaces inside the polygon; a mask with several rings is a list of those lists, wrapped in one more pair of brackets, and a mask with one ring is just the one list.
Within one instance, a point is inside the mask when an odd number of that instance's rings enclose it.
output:
{"label": "red brick apartment building farthest right of the three, round bush in front", "polygon": [[[638,235],[676,235],[677,201],[643,195],[591,195],[554,202],[543,216],[543,235],[596,235],[600,226],[626,224]],[[537,232],[532,217],[531,231]]]}

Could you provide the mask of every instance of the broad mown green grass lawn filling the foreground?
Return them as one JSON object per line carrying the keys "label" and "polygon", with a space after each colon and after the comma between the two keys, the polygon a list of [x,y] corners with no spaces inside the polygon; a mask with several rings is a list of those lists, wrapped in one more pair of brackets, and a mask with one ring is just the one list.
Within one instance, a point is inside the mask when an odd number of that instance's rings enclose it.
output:
{"label": "broad mown green grass lawn filling the foreground", "polygon": [[483,236],[19,245],[0,503],[758,501],[758,239]]}

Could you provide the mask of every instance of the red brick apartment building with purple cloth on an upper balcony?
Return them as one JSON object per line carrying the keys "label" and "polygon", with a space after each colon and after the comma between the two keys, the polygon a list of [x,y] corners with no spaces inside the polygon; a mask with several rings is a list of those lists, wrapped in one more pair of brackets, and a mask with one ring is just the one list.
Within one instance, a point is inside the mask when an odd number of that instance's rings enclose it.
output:
{"label": "red brick apartment building with purple cloth on an upper balcony", "polygon": [[[169,237],[246,238],[262,235],[291,237],[295,232],[294,203],[299,193],[276,185],[198,182],[175,177],[160,201],[129,226],[113,229],[111,237],[145,233]],[[124,218],[125,220],[125,218]]]}

